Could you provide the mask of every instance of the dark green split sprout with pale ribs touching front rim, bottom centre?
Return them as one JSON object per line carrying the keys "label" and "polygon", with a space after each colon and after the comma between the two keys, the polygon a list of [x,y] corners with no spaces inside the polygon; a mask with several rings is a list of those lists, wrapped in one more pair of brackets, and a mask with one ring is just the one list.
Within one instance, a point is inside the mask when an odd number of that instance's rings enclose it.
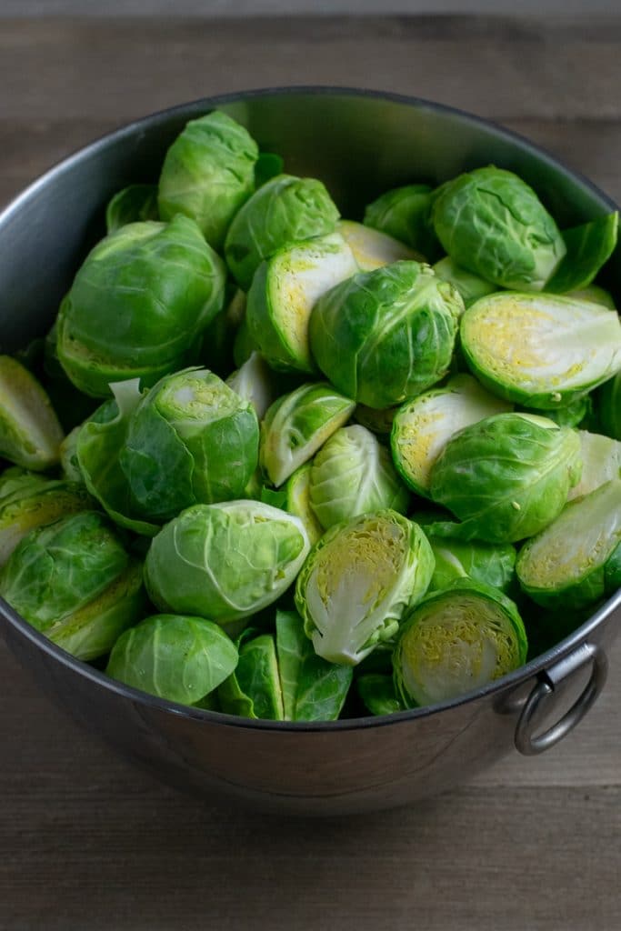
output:
{"label": "dark green split sprout with pale ribs touching front rim, bottom centre", "polygon": [[335,721],[351,667],[317,656],[295,611],[277,611],[276,637],[244,631],[239,665],[220,687],[223,711],[273,721]]}

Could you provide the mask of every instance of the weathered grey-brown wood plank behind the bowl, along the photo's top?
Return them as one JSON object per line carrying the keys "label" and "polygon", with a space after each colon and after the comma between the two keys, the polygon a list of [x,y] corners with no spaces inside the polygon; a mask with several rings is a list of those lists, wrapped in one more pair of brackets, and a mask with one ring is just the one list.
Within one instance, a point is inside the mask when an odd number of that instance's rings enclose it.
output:
{"label": "weathered grey-brown wood plank behind the bowl, along the photo's top", "polygon": [[126,122],[242,88],[336,84],[496,119],[616,119],[619,20],[4,20],[3,118]]}

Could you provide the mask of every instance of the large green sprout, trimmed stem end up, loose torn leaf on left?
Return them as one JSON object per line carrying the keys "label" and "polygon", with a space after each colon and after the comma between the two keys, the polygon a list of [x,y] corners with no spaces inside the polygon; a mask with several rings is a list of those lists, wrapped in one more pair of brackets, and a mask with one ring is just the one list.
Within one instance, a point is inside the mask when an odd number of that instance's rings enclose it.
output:
{"label": "large green sprout, trimmed stem end up, loose torn leaf on left", "polygon": [[114,408],[108,402],[81,427],[77,455],[89,491],[118,523],[153,533],[185,507],[244,492],[258,463],[259,424],[217,375],[188,369],[144,395],[137,380],[113,390]]}

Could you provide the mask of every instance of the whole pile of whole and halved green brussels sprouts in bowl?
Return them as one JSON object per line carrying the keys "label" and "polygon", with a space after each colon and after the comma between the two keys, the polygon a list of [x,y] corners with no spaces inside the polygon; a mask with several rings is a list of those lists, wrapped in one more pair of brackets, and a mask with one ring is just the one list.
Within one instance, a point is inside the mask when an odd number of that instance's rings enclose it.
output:
{"label": "whole pile of whole and halved green brussels sprouts in bowl", "polygon": [[249,718],[452,699],[621,585],[616,213],[482,167],[340,219],[215,111],[0,358],[0,594]]}

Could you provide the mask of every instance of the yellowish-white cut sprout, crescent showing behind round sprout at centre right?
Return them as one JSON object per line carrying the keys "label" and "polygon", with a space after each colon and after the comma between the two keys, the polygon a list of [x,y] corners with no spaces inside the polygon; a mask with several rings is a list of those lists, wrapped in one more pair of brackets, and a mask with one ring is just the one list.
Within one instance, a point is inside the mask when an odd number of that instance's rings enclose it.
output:
{"label": "yellowish-white cut sprout, crescent showing behind round sprout at centre right", "polygon": [[403,404],[395,414],[390,445],[406,485],[428,497],[431,467],[452,435],[511,407],[466,374],[455,375],[443,388],[433,388]]}

